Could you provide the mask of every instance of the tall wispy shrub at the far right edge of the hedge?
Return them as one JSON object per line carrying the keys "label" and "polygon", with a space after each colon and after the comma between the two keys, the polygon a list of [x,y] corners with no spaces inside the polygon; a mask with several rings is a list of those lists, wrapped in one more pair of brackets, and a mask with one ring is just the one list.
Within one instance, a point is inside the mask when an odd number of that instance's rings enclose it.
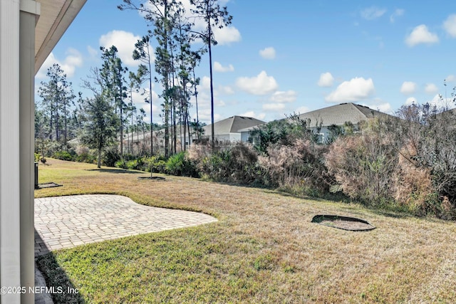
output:
{"label": "tall wispy shrub at the far right edge of the hedge", "polygon": [[403,106],[397,114],[403,120],[393,125],[394,142],[401,156],[413,165],[409,170],[413,177],[405,179],[418,179],[425,172],[426,179],[430,178],[430,189],[426,192],[432,193],[426,195],[420,191],[422,187],[416,181],[403,181],[412,190],[406,197],[413,200],[420,215],[431,213],[456,219],[455,112],[425,104]]}

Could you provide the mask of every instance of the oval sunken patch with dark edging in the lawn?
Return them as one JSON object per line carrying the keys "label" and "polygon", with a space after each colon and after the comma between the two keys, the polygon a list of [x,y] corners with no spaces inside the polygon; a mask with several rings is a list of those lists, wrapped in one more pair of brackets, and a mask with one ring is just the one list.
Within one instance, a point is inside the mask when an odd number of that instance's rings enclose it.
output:
{"label": "oval sunken patch with dark edging in the lawn", "polygon": [[369,231],[375,229],[375,226],[368,221],[349,216],[318,214],[314,216],[312,223],[348,231]]}

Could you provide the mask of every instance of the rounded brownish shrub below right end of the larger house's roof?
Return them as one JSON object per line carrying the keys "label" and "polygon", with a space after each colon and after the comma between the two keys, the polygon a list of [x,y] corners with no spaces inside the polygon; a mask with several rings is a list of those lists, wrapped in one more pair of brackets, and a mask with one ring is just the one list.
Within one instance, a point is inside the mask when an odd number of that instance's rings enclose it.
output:
{"label": "rounded brownish shrub below right end of the larger house's roof", "polygon": [[388,135],[378,127],[373,120],[361,134],[339,137],[326,154],[328,172],[335,178],[331,190],[369,206],[393,201],[391,182],[398,161]]}

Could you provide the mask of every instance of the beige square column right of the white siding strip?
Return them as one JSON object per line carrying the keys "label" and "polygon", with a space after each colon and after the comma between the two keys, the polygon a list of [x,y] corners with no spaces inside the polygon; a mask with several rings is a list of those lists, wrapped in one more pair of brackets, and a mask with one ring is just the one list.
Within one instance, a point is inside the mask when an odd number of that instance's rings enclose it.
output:
{"label": "beige square column right of the white siding strip", "polygon": [[35,302],[34,146],[35,146],[35,26],[40,4],[21,0],[19,31],[19,167],[21,201],[21,303]]}

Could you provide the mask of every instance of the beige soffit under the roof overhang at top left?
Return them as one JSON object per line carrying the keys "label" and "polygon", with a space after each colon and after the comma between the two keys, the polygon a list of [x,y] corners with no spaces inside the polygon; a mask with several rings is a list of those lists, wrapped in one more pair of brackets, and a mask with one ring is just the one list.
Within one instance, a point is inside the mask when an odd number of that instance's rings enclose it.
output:
{"label": "beige soffit under the roof overhang at top left", "polygon": [[41,14],[35,27],[35,73],[56,46],[87,0],[38,0]]}

